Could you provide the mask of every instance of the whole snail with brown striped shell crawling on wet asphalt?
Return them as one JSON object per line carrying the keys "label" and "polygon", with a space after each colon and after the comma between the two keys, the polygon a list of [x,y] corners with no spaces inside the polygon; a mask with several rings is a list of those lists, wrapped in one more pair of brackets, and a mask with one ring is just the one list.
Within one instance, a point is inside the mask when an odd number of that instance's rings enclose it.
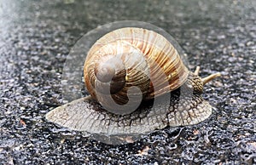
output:
{"label": "whole snail with brown striped shell crawling on wet asphalt", "polygon": [[49,111],[46,119],[110,144],[132,142],[166,126],[196,124],[212,113],[201,96],[203,86],[220,76],[201,78],[199,70],[189,71],[159,33],[119,28],[98,39],[87,54],[84,83],[90,96]]}

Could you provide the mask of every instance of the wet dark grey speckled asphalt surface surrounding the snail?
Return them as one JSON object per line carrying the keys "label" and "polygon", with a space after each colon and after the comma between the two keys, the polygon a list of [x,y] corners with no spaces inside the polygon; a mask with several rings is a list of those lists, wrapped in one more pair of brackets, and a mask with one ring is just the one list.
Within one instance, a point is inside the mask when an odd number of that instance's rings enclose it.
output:
{"label": "wet dark grey speckled asphalt surface surrounding the snail", "polygon": [[[0,164],[255,164],[256,3],[0,0]],[[63,104],[61,73],[80,37],[116,20],[160,26],[201,76],[212,117],[133,144],[104,145],[46,122]]]}

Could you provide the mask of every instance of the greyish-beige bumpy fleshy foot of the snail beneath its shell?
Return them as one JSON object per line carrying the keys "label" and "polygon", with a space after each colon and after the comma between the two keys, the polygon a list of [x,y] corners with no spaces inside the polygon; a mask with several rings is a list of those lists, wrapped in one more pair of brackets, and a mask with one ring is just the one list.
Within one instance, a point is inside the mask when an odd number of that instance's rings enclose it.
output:
{"label": "greyish-beige bumpy fleshy foot of the snail beneath its shell", "polygon": [[[188,83],[195,81],[197,79],[191,73]],[[186,86],[185,83],[183,87],[188,88]],[[105,111],[88,96],[57,107],[47,114],[46,119],[62,127],[91,134],[131,135],[146,134],[166,126],[192,125],[204,121],[211,115],[212,106],[202,99],[200,93],[195,91],[192,96],[181,95],[180,90],[177,88],[172,91],[170,105],[159,102],[152,108],[152,101],[148,101],[144,102],[137,111],[125,116]]]}

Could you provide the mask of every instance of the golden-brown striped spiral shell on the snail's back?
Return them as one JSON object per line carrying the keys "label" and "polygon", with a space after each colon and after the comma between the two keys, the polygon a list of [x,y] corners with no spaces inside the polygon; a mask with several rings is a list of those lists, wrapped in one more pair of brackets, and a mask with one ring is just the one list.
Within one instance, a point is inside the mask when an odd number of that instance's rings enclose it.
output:
{"label": "golden-brown striped spiral shell on the snail's back", "polygon": [[[106,64],[104,69],[101,69],[101,63]],[[104,76],[104,72],[109,75]],[[160,34],[142,28],[127,27],[109,32],[90,48],[84,63],[88,91],[93,98],[106,104],[108,100],[100,99],[96,94],[102,94],[101,89],[96,91],[97,83],[103,88],[107,82],[113,100],[124,105],[127,102],[126,93],[132,86],[141,90],[133,96],[141,94],[143,100],[148,100],[179,88],[188,75],[189,71],[172,43]],[[104,82],[104,78],[112,80]]]}

